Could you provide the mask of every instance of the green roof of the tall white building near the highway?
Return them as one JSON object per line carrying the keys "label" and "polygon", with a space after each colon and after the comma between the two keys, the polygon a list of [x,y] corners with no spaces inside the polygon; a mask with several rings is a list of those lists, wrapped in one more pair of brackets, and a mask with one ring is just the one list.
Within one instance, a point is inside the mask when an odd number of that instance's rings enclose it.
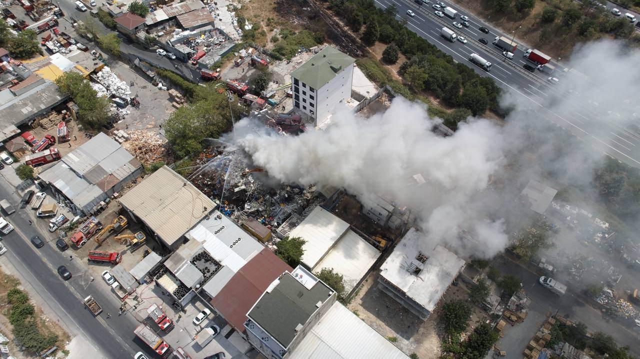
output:
{"label": "green roof of the tall white building near the highway", "polygon": [[291,76],[317,90],[354,62],[353,57],[327,46],[296,68]]}

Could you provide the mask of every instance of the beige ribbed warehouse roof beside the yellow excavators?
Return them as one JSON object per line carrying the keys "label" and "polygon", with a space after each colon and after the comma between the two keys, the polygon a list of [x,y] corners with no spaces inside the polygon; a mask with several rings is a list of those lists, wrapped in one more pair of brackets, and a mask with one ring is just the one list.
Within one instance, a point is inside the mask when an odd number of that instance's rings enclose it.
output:
{"label": "beige ribbed warehouse roof beside the yellow excavators", "polygon": [[169,167],[161,167],[123,195],[120,203],[168,245],[173,245],[216,204]]}

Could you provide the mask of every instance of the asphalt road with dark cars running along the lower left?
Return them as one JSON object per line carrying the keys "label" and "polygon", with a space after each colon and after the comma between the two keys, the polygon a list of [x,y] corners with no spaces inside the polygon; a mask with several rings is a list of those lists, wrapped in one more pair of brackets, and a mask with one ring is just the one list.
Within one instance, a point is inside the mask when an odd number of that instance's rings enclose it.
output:
{"label": "asphalt road with dark cars running along the lower left", "polygon": [[[35,222],[29,224],[29,208],[19,209],[20,199],[10,192],[6,183],[0,185],[0,198],[8,199],[17,209],[6,217],[15,229],[2,236],[3,245],[8,249],[5,256],[17,270],[27,271],[25,277],[37,281],[31,284],[42,289],[40,295],[43,298],[50,298],[47,301],[49,305],[61,310],[59,314],[72,320],[108,358],[132,358],[138,351],[151,352],[133,333],[138,324],[135,319],[129,315],[118,316],[115,294],[106,290],[107,285],[101,278],[90,279],[91,275],[79,263],[82,259],[74,256],[71,248],[61,252],[55,241],[49,238],[49,233],[38,231]],[[44,247],[35,248],[31,244],[29,239],[35,235],[45,241]],[[69,256],[74,256],[74,259],[69,259]],[[65,282],[60,278],[56,271],[60,265],[67,266],[72,279]],[[88,295],[102,306],[103,312],[98,317],[84,307],[83,298]],[[111,318],[106,317],[107,313]]]}

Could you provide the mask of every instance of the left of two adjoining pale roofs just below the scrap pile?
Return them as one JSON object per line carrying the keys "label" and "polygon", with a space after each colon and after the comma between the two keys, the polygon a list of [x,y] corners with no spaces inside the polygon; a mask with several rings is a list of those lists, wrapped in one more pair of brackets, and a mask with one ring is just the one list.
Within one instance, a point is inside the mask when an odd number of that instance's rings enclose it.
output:
{"label": "left of two adjoining pale roofs just below the scrap pile", "polygon": [[298,227],[292,229],[289,237],[301,237],[307,241],[303,246],[305,254],[302,255],[302,263],[314,268],[347,229],[347,222],[317,206]]}

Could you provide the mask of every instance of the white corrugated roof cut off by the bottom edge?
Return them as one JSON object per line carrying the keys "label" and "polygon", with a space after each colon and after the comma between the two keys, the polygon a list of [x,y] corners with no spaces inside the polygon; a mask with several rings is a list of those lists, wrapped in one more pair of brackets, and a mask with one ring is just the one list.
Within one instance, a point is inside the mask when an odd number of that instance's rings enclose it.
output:
{"label": "white corrugated roof cut off by the bottom edge", "polygon": [[290,359],[408,359],[400,349],[339,302],[320,318]]}

